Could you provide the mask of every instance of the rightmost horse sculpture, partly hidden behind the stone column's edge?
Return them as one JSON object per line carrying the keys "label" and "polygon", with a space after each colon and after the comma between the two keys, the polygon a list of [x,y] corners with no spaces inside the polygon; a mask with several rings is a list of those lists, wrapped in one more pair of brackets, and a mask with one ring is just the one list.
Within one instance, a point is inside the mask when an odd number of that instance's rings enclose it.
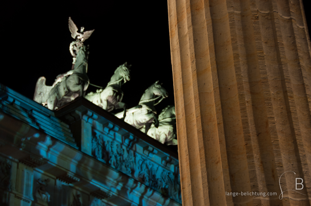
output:
{"label": "rightmost horse sculpture, partly hidden behind the stone column's edge", "polygon": [[167,145],[177,145],[175,106],[165,107],[159,114],[158,120],[158,128],[152,123],[147,135],[162,144],[166,142]]}

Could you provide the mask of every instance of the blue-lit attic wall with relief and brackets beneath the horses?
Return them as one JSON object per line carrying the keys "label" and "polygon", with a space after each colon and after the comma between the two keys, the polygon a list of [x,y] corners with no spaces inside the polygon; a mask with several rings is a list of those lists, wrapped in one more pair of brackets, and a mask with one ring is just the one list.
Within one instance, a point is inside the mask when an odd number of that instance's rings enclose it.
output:
{"label": "blue-lit attic wall with relief and brackets beneath the horses", "polygon": [[119,135],[108,123],[102,131],[92,130],[92,155],[146,186],[181,202],[178,161],[160,150],[139,142],[132,134]]}

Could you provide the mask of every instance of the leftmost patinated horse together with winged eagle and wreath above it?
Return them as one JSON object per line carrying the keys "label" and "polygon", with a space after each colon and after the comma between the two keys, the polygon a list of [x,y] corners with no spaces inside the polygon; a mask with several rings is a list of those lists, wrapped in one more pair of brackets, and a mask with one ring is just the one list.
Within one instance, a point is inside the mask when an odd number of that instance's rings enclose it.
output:
{"label": "leftmost patinated horse together with winged eagle and wreath above it", "polygon": [[52,86],[46,86],[46,78],[40,77],[35,88],[34,100],[47,106],[50,110],[55,110],[79,96],[85,96],[85,91],[90,83],[86,75],[89,45],[86,47],[83,42],[91,36],[94,29],[83,32],[84,27],[82,26],[78,32],[77,26],[70,17],[68,26],[72,38],[76,40],[69,47],[73,56],[72,70],[59,74]]}

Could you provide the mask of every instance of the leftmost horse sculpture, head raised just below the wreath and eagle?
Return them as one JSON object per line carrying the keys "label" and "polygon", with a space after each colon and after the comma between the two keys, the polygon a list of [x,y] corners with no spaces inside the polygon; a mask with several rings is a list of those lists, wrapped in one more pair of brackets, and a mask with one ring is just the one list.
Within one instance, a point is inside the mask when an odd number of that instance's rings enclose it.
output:
{"label": "leftmost horse sculpture, head raised just below the wreath and eagle", "polygon": [[86,46],[80,48],[74,69],[60,74],[53,86],[45,85],[45,77],[40,77],[36,84],[34,100],[55,110],[79,96],[84,96],[90,80],[87,76],[88,53]]}

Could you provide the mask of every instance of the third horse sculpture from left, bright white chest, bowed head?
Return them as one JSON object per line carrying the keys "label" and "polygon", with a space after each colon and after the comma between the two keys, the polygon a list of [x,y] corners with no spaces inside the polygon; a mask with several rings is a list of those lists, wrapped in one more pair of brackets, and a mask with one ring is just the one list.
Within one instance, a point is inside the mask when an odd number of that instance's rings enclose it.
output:
{"label": "third horse sculpture from left, bright white chest, bowed head", "polygon": [[[145,133],[147,133],[153,121],[155,121],[155,127],[157,127],[159,122],[156,117],[156,109],[154,105],[168,97],[167,91],[161,85],[162,84],[159,84],[159,81],[156,81],[156,83],[146,89],[138,106],[133,107],[126,112],[124,121]],[[155,104],[155,100],[160,97],[162,97],[162,99]],[[121,118],[122,113],[117,113],[115,116]]]}

